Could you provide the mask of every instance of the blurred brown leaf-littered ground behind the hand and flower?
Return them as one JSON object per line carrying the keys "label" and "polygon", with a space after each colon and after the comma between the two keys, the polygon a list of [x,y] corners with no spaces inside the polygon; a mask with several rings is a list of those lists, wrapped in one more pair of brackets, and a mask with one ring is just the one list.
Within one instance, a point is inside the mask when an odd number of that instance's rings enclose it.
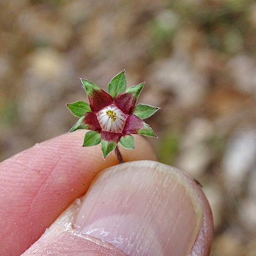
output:
{"label": "blurred brown leaf-littered ground behind the hand and flower", "polygon": [[256,3],[1,0],[0,160],[66,133],[79,77],[126,70],[159,161],[198,179],[215,221],[211,256],[256,255]]}

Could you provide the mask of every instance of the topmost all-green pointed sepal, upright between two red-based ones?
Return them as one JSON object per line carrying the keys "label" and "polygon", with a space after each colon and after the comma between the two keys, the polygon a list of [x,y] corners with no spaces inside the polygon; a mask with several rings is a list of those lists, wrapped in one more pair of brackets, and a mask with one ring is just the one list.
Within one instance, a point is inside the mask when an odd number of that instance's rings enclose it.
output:
{"label": "topmost all-green pointed sepal, upright between two red-based ones", "polygon": [[126,80],[123,70],[112,78],[111,82],[109,83],[108,91],[113,98],[116,98],[119,93],[125,90],[125,88]]}

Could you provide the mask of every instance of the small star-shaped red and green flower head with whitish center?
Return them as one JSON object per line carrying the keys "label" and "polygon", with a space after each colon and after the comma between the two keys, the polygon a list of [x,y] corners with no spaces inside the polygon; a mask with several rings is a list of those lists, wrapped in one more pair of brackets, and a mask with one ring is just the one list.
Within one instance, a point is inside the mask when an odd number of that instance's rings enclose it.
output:
{"label": "small star-shaped red and green flower head with whitish center", "polygon": [[142,119],[150,117],[159,108],[146,104],[136,105],[144,82],[126,89],[122,71],[113,77],[109,83],[109,93],[106,93],[87,79],[81,78],[81,81],[90,104],[77,101],[68,104],[68,107],[75,116],[80,117],[70,132],[78,129],[91,130],[84,136],[83,146],[101,142],[105,158],[116,148],[118,142],[125,148],[133,149],[134,138],[131,134],[157,137]]}

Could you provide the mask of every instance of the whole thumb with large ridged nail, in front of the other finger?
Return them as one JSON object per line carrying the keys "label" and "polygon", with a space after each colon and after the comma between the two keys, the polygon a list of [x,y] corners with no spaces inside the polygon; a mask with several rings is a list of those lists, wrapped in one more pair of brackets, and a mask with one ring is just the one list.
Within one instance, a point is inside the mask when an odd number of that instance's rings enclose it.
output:
{"label": "whole thumb with large ridged nail, in front of the other finger", "polygon": [[[209,204],[201,188],[171,166],[137,161],[110,167],[78,203],[23,256],[47,251],[76,256],[102,245],[130,256],[209,255]],[[65,243],[59,244],[59,237]],[[122,255],[113,251],[99,255]]]}

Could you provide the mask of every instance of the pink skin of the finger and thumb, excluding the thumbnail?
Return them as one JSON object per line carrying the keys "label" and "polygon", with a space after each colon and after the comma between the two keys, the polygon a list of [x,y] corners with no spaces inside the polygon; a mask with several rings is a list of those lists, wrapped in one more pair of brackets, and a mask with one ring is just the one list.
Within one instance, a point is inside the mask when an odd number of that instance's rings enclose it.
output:
{"label": "pink skin of the finger and thumb, excluding the thumbnail", "polygon": [[[114,153],[103,159],[100,145],[83,148],[84,133],[76,131],[47,140],[0,163],[0,255],[20,255],[32,244],[24,255],[48,255],[49,251],[54,255],[60,248],[63,255],[126,255],[97,236],[74,236],[74,226],[67,228],[81,208],[71,203],[87,193],[103,169],[118,164]],[[125,162],[156,160],[142,136],[135,136],[135,150],[120,147],[120,151]],[[191,247],[190,255],[208,255],[213,229],[209,204],[193,179],[178,174],[183,186],[193,189],[202,209],[196,235],[182,246]]]}

